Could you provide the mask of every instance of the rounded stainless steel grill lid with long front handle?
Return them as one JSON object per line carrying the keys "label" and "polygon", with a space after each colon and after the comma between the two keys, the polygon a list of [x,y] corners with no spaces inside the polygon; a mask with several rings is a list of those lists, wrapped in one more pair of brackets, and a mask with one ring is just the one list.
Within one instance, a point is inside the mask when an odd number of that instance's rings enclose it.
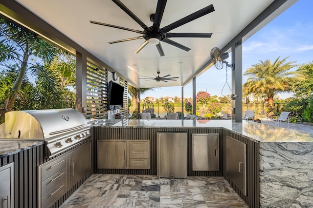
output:
{"label": "rounded stainless steel grill lid with long front handle", "polygon": [[47,139],[87,126],[74,109],[11,111],[5,113],[4,132],[13,138]]}

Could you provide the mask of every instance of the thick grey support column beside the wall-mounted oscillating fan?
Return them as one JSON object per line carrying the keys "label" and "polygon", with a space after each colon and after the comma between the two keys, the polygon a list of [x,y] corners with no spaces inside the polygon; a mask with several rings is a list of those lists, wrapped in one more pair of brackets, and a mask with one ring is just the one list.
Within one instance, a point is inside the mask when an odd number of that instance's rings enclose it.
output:
{"label": "thick grey support column beside the wall-mounted oscillating fan", "polygon": [[231,89],[232,89],[232,121],[242,122],[243,118],[243,51],[242,42],[237,42],[231,47],[231,59],[234,65],[231,73]]}

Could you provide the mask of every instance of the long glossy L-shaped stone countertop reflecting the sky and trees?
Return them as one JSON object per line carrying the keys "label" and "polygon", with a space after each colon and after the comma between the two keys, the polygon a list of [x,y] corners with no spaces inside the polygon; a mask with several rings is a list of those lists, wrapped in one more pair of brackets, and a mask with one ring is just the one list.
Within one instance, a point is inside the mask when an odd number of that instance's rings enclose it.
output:
{"label": "long glossy L-shaped stone countertop reflecting the sky and trees", "polygon": [[243,120],[101,120],[94,127],[109,128],[224,128],[258,142],[313,142],[313,134]]}

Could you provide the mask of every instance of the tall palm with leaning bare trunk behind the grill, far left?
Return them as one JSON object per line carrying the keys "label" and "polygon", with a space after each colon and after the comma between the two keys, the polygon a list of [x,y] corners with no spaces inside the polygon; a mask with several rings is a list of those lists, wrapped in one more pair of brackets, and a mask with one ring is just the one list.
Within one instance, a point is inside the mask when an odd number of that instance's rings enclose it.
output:
{"label": "tall palm with leaning bare trunk behind the grill, far left", "polygon": [[20,63],[19,75],[12,88],[7,92],[7,99],[0,109],[1,123],[4,113],[13,108],[28,65],[34,65],[29,59],[40,58],[45,63],[51,63],[54,57],[61,53],[61,49],[38,38],[31,31],[17,26],[14,22],[2,18],[0,18],[0,38],[0,63],[5,61],[18,61]]}

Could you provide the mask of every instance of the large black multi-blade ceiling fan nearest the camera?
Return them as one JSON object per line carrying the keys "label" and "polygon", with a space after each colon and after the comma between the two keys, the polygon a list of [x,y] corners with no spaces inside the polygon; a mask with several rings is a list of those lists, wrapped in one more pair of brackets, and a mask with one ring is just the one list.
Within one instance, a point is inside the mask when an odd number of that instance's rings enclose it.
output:
{"label": "large black multi-blade ceiling fan nearest the camera", "polygon": [[153,25],[151,27],[148,27],[147,25],[145,25],[145,23],[143,23],[138,17],[136,17],[134,15],[134,13],[131,10],[129,10],[129,8],[127,8],[120,0],[112,0],[112,1],[115,4],[117,4],[117,6],[119,6],[124,12],[126,12],[132,19],[134,19],[143,28],[143,31],[129,29],[129,28],[120,27],[120,26],[111,25],[111,24],[106,24],[106,23],[97,22],[97,21],[91,21],[91,20],[90,20],[90,23],[104,25],[104,26],[108,26],[108,27],[114,27],[114,28],[118,28],[118,29],[122,29],[122,30],[128,30],[128,31],[132,31],[135,33],[142,34],[142,36],[135,37],[135,38],[127,38],[127,39],[109,42],[110,44],[112,44],[112,43],[118,43],[118,42],[124,42],[124,41],[144,38],[145,42],[139,46],[139,48],[134,52],[135,54],[137,54],[148,43],[150,43],[150,44],[156,45],[156,48],[157,48],[161,57],[164,56],[164,52],[163,52],[162,46],[160,44],[160,41],[166,42],[166,43],[171,44],[173,46],[176,46],[176,47],[178,47],[184,51],[189,51],[190,48],[188,48],[182,44],[179,44],[178,42],[175,42],[169,38],[211,38],[211,36],[212,36],[212,33],[169,33],[169,31],[171,31],[171,30],[173,30],[173,29],[175,29],[175,28],[177,28],[183,24],[186,24],[192,20],[198,19],[204,15],[207,15],[207,14],[213,12],[214,7],[212,4],[209,6],[206,6],[206,7],[202,8],[201,10],[194,12],[194,13],[192,13],[192,14],[190,14],[190,15],[182,18],[182,19],[179,19],[176,22],[173,22],[172,24],[169,24],[165,27],[160,28],[160,23],[161,23],[161,19],[163,16],[163,12],[164,12],[167,0],[158,0],[157,1],[156,13],[150,15],[150,20],[153,22]]}

